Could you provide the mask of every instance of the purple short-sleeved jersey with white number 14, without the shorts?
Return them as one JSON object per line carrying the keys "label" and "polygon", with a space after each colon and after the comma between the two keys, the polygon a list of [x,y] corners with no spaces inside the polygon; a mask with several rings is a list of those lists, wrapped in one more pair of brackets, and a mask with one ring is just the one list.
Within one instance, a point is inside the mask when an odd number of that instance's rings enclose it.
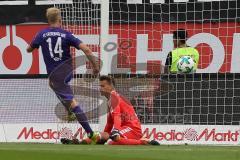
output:
{"label": "purple short-sleeved jersey with white number 14, without the shorts", "polygon": [[49,27],[40,31],[31,43],[32,48],[42,48],[47,73],[50,74],[63,62],[71,59],[70,47],[79,49],[81,40],[71,32]]}

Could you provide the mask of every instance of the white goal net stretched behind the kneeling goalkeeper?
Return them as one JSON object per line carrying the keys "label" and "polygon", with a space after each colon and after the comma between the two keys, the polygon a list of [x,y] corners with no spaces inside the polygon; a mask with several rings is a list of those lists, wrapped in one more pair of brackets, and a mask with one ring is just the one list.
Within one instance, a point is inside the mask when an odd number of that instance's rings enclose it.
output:
{"label": "white goal net stretched behind the kneeling goalkeeper", "polygon": [[[92,38],[102,36],[100,3],[57,5],[64,27],[90,42],[97,53],[100,43],[93,45]],[[237,72],[232,58],[239,31],[237,10],[237,1],[109,2],[109,36],[104,48],[108,59],[98,55],[110,64],[107,73],[116,76],[117,89],[132,101],[142,123],[239,124],[239,77],[224,74]],[[163,74],[166,57],[174,47],[172,33],[179,28],[187,30],[187,44],[200,53],[196,75]]]}

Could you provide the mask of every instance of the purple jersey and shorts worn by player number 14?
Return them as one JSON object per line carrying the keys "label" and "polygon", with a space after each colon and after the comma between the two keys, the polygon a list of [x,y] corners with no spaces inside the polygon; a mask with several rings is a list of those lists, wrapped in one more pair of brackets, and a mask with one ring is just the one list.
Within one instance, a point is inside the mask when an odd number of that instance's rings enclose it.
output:
{"label": "purple jersey and shorts worn by player number 14", "polygon": [[50,87],[62,102],[73,99],[73,91],[68,84],[73,71],[70,47],[79,49],[80,43],[82,41],[72,33],[49,27],[40,31],[30,44],[32,48],[41,46]]}

